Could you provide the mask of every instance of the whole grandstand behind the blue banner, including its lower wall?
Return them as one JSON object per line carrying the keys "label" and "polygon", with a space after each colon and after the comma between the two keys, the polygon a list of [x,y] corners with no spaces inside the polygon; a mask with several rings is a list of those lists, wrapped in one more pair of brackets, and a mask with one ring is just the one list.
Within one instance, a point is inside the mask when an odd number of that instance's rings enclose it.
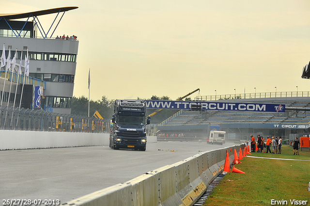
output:
{"label": "whole grandstand behind the blue banner, including its lower wall", "polygon": [[[309,92],[306,92],[309,94]],[[257,95],[261,96],[261,95]],[[286,108],[309,108],[310,95],[290,97],[264,97],[248,99],[221,99],[227,103],[282,104]],[[212,101],[212,102],[217,102]],[[292,133],[305,133],[309,128],[310,111],[286,110],[285,112],[260,111],[185,111],[181,110],[158,125],[158,131],[165,133],[182,132],[192,136],[206,137],[210,126],[220,126],[221,130],[237,139],[248,139],[250,134],[282,136],[289,139]],[[233,133],[233,134],[232,134]],[[309,135],[309,134],[308,134]]]}

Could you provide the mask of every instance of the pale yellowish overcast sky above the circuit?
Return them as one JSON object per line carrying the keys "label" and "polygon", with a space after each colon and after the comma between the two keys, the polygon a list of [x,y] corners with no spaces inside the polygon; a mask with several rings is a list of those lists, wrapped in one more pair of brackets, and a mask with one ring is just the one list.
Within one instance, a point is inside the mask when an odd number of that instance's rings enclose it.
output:
{"label": "pale yellowish overcast sky above the circuit", "polygon": [[[310,91],[309,0],[0,0],[0,13],[78,6],[54,36],[79,40],[74,95],[173,100]],[[55,14],[39,16],[48,30]],[[41,20],[42,19],[42,20]],[[31,66],[31,65],[30,65]],[[197,93],[191,95],[192,99]]]}

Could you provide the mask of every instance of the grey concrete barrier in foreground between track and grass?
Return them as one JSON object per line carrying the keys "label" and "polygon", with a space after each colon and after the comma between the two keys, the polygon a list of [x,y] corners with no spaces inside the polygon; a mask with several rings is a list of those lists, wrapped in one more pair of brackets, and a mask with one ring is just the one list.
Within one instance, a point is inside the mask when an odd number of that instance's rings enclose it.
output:
{"label": "grey concrete barrier in foreground between track and grass", "polygon": [[244,144],[199,153],[125,183],[72,200],[65,206],[192,206],[223,171],[226,151],[233,163]]}

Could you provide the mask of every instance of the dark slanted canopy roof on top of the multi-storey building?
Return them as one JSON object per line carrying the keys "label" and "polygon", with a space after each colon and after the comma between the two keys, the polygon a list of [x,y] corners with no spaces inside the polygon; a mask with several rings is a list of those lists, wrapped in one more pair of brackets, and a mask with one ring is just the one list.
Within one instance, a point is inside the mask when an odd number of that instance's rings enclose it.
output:
{"label": "dark slanted canopy roof on top of the multi-storey building", "polygon": [[19,19],[19,18],[28,18],[29,16],[41,16],[48,14],[55,14],[61,12],[70,11],[73,9],[77,9],[77,6],[69,6],[69,7],[60,7],[55,9],[47,9],[36,12],[27,12],[27,13],[18,13],[18,14],[0,14],[0,18],[3,17],[5,19]]}

